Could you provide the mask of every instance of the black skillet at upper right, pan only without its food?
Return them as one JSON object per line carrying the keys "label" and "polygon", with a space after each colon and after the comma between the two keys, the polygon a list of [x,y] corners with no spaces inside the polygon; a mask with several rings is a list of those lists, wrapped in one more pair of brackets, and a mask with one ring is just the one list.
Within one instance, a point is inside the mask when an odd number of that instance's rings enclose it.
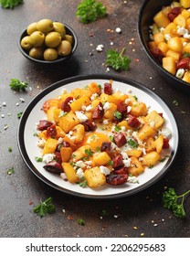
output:
{"label": "black skillet at upper right, pan only without its food", "polygon": [[142,43],[142,48],[145,53],[151,59],[155,69],[157,69],[160,75],[166,80],[172,87],[183,91],[185,93],[190,93],[190,83],[185,82],[176,78],[174,75],[169,73],[164,69],[155,59],[153,59],[152,54],[148,48],[148,42],[150,41],[150,26],[153,25],[153,16],[158,13],[163,6],[170,5],[173,0],[145,0],[140,9],[140,14],[138,17],[138,34],[140,41]]}

